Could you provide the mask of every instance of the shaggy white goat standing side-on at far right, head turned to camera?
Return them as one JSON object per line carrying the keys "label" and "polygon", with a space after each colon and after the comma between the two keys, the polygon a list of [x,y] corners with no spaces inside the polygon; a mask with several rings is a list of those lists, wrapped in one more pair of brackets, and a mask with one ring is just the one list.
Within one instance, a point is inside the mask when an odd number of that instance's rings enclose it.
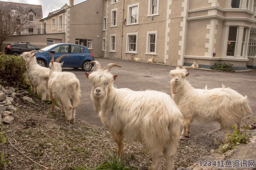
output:
{"label": "shaggy white goat standing side-on at far right, head turned to camera", "polygon": [[184,135],[189,135],[190,124],[194,119],[205,123],[219,122],[222,129],[231,133],[232,126],[241,128],[245,112],[252,113],[247,104],[247,96],[244,97],[237,91],[225,88],[224,85],[211,90],[207,86],[205,89],[193,88],[186,80],[189,70],[185,67],[171,70],[170,75],[173,100],[184,116],[180,140],[183,140]]}

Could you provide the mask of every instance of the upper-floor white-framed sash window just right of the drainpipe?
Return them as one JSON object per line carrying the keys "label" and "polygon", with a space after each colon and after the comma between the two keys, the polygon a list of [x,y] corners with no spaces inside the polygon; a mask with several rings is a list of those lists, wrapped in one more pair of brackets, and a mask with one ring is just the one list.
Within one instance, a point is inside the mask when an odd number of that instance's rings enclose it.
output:
{"label": "upper-floor white-framed sash window just right of the drainpipe", "polygon": [[128,6],[128,24],[138,24],[139,23],[139,3]]}

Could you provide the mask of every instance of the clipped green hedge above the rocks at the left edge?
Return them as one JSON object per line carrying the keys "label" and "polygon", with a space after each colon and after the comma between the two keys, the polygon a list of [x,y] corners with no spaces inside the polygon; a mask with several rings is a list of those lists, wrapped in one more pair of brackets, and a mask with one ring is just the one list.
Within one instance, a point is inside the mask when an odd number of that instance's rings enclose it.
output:
{"label": "clipped green hedge above the rocks at the left edge", "polygon": [[0,79],[4,86],[29,88],[26,63],[19,56],[0,53]]}

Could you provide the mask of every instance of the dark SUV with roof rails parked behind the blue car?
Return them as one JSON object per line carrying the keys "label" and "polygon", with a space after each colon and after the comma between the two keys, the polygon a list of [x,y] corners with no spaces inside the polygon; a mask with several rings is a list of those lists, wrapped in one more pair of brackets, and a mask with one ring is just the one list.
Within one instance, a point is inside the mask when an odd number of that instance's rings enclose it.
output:
{"label": "dark SUV with roof rails parked behind the blue car", "polygon": [[6,54],[13,54],[15,56],[18,56],[23,52],[32,51],[32,50],[39,50],[39,48],[37,48],[34,45],[30,45],[29,43],[23,43],[23,42],[9,44],[8,46],[5,47]]}

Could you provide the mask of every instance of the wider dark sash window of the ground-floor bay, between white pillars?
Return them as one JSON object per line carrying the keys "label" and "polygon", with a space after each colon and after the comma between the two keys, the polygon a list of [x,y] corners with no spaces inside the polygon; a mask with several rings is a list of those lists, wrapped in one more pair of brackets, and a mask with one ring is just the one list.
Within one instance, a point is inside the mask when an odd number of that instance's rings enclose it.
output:
{"label": "wider dark sash window of the ground-floor bay, between white pillars", "polygon": [[237,42],[237,27],[229,27],[229,38],[227,42],[227,56],[235,56],[236,42]]}

